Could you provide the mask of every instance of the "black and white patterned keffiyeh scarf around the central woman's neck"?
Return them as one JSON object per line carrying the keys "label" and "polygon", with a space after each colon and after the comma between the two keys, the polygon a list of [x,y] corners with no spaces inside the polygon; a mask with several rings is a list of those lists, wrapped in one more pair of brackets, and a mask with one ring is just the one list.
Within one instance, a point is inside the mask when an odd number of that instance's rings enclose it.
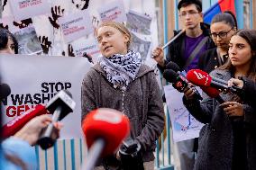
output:
{"label": "black and white patterned keffiyeh scarf around the central woman's neck", "polygon": [[132,82],[137,75],[141,65],[142,58],[140,53],[129,50],[127,54],[114,54],[110,58],[102,56],[99,58],[99,64],[104,69],[107,80],[123,91]]}

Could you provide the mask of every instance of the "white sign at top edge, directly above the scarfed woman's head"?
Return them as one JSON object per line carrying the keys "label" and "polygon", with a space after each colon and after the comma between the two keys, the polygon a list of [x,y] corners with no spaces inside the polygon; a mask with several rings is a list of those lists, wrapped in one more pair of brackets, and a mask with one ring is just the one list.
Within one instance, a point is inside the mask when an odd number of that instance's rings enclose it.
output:
{"label": "white sign at top edge, directly above the scarfed woman's head", "polygon": [[120,0],[102,5],[102,7],[98,9],[98,13],[102,22],[126,22],[123,1]]}

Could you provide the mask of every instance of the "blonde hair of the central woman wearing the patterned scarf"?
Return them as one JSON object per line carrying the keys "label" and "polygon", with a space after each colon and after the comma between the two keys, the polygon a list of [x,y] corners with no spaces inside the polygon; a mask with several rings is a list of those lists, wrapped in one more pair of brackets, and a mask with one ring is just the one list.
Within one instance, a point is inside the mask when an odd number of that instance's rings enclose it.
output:
{"label": "blonde hair of the central woman wearing the patterned scarf", "polygon": [[104,26],[109,26],[109,27],[113,27],[118,31],[121,31],[123,33],[123,35],[126,35],[128,37],[128,41],[126,44],[127,49],[129,49],[130,44],[131,44],[131,40],[132,40],[132,35],[131,32],[128,31],[128,29],[123,25],[123,23],[119,23],[119,22],[102,22],[96,30],[96,35],[97,35],[97,31],[99,28],[104,27]]}

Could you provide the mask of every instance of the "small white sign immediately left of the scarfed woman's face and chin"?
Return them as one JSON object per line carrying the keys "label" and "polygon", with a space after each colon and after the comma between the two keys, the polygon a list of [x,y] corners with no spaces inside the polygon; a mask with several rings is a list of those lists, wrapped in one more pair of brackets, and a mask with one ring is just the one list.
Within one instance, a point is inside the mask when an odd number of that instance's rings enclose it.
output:
{"label": "small white sign immediately left of the scarfed woman's face and chin", "polygon": [[92,57],[94,63],[96,63],[100,55],[100,50],[98,49],[95,38],[75,40],[72,42],[72,47],[75,56],[83,56],[86,52],[88,56]]}

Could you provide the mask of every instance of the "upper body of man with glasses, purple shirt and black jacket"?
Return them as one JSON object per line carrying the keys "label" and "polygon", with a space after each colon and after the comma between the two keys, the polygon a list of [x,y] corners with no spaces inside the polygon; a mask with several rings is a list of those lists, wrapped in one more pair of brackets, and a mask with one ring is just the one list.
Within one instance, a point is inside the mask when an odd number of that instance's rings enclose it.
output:
{"label": "upper body of man with glasses, purple shirt and black jacket", "polygon": [[[152,57],[158,62],[160,71],[165,69],[169,61],[175,62],[181,69],[197,68],[198,57],[207,49],[215,48],[215,43],[209,36],[209,25],[202,22],[202,3],[199,0],[181,0],[178,3],[178,12],[185,32],[169,44],[166,59],[160,47],[152,52]],[[174,31],[174,34],[177,35],[178,32]],[[202,40],[203,45],[200,44]]]}

